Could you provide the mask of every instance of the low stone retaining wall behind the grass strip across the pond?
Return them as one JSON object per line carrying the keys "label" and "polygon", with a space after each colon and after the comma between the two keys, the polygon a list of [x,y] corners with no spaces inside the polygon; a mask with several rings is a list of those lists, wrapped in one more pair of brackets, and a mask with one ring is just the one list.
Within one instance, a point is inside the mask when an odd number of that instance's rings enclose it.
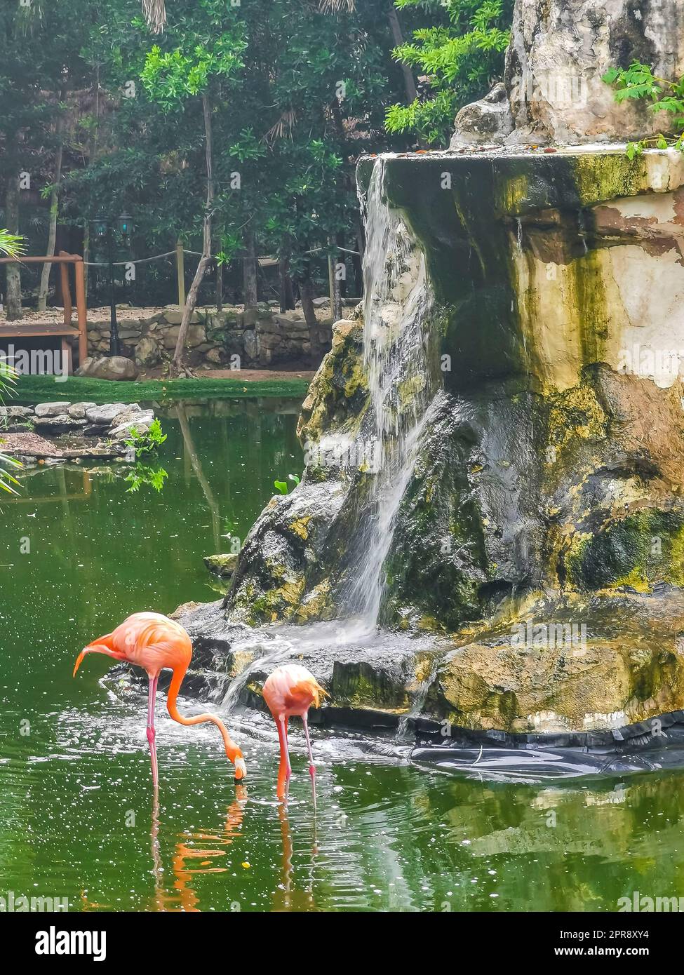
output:
{"label": "low stone retaining wall behind the grass strip across the pond", "polygon": [[[187,335],[188,363],[206,369],[268,369],[287,363],[318,362],[330,348],[332,329],[325,318],[327,299],[317,300],[325,301],[325,306],[317,309],[319,321],[313,351],[301,310],[280,314],[265,303],[248,311],[239,306],[221,312],[198,308]],[[173,355],[181,327],[182,313],[176,305],[155,309],[153,314],[150,311],[128,306],[117,309],[123,354],[135,359],[141,369],[154,368]],[[88,350],[91,356],[108,352],[108,322],[88,323]]]}

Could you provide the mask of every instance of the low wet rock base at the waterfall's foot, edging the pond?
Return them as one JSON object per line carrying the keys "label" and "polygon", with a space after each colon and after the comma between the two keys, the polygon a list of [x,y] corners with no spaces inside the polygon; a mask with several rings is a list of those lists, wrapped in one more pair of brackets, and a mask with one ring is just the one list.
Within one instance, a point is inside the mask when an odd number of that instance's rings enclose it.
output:
{"label": "low wet rock base at the waterfall's foot, edging the pond", "polygon": [[[552,612],[547,606],[547,613],[561,620],[563,610],[573,609],[556,606]],[[529,611],[528,605],[521,618],[530,619]],[[187,685],[193,694],[222,700],[234,682],[233,701],[263,710],[261,688],[270,670],[296,661],[330,695],[313,722],[402,729],[423,747],[619,755],[660,748],[684,723],[677,708],[684,698],[684,597],[674,590],[594,601],[586,609],[592,620],[586,643],[555,649],[511,641],[509,621],[474,641],[465,632],[435,637],[379,631],[354,643],[346,639],[343,620],[253,629],[231,621],[221,601],[183,604],[172,615],[195,650]],[[668,633],[665,619],[677,620]],[[549,667],[557,671],[555,681]],[[585,688],[591,686],[592,706],[606,710],[594,711],[590,722],[578,719],[567,690],[573,684],[576,706],[586,707]]]}

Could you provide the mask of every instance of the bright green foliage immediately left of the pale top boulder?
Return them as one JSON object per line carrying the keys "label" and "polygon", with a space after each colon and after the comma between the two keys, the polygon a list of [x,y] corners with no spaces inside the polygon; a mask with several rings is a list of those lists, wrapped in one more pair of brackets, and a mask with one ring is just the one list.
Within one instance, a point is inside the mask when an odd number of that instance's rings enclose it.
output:
{"label": "bright green foliage immediately left of the pale top boulder", "polygon": [[420,8],[436,24],[413,31],[394,57],[427,75],[429,94],[386,111],[389,133],[414,132],[430,144],[449,141],[454,116],[481,98],[503,73],[512,0],[395,0],[400,10]]}

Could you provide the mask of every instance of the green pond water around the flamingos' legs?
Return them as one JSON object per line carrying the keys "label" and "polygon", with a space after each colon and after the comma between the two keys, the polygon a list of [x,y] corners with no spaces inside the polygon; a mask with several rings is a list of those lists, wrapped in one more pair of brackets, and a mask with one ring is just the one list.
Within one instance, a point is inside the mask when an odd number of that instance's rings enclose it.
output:
{"label": "green pond water around the flamingos' legs", "polygon": [[167,413],[161,493],[127,493],[118,465],[43,467],[2,503],[0,897],[67,898],[71,911],[494,912],[684,894],[680,772],[491,782],[314,728],[314,816],[295,728],[286,813],[270,722],[230,716],[249,766],[236,793],[216,730],[171,722],[160,700],[156,803],[145,697],[102,680],[103,658],[72,680],[74,658],[131,612],[219,598],[202,556],[228,531],[244,537],[273,480],[302,467],[296,403]]}

